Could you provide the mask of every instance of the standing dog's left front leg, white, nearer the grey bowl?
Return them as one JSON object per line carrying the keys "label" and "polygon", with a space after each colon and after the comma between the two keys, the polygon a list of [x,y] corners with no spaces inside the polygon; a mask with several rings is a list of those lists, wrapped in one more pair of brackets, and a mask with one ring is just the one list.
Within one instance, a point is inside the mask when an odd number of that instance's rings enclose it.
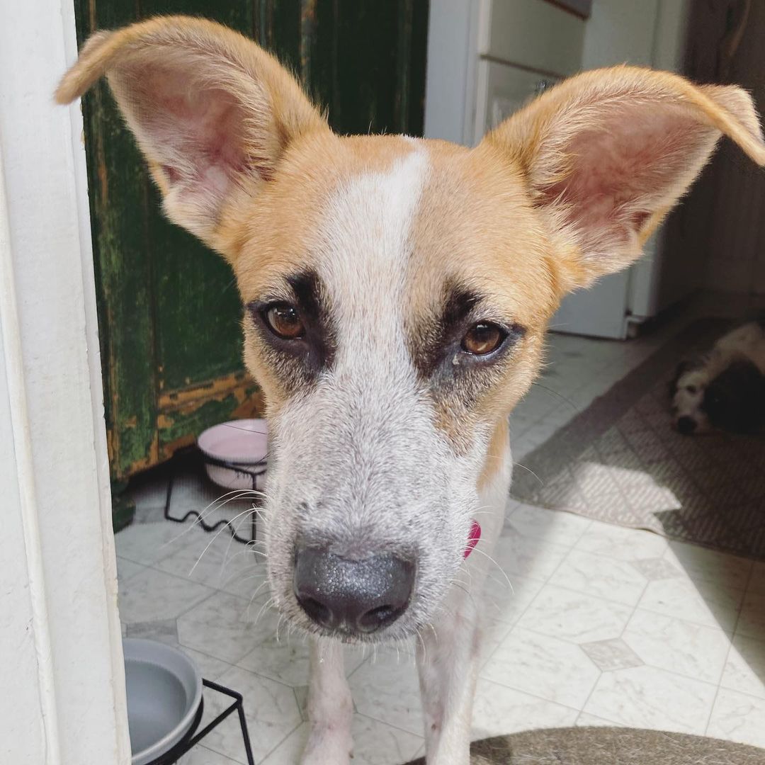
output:
{"label": "standing dog's left front leg, white, nearer the grey bowl", "polygon": [[353,700],[345,677],[343,645],[334,640],[311,640],[308,681],[308,735],[303,765],[347,765],[353,741],[350,724]]}

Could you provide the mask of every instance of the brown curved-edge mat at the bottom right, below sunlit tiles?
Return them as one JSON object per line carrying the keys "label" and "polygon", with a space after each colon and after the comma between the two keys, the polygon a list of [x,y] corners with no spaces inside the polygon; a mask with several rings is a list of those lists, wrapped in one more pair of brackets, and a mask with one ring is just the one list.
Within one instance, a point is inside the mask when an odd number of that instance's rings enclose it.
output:
{"label": "brown curved-edge mat at the bottom right, below sunlit tiles", "polygon": [[[765,750],[639,728],[551,728],[470,744],[470,765],[762,765]],[[425,765],[415,760],[409,765]]]}

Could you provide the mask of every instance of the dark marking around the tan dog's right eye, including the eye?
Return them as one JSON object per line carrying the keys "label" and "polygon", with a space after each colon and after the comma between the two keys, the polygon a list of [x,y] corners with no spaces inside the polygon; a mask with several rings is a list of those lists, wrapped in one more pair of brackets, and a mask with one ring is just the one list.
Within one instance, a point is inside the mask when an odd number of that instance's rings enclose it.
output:
{"label": "dark marking around the tan dog's right eye, including the eye", "polygon": [[423,379],[454,375],[457,368],[489,366],[526,334],[526,327],[482,314],[482,295],[448,289],[440,321],[412,341],[412,358]]}

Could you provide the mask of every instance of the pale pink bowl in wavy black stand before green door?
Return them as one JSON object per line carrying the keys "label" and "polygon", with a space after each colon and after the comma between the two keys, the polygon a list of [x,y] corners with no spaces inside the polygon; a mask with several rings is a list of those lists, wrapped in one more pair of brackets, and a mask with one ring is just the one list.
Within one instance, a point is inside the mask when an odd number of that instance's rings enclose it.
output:
{"label": "pale pink bowl in wavy black stand before green door", "polygon": [[265,459],[269,451],[268,426],[265,420],[232,420],[207,428],[197,439],[203,454],[213,460],[232,464],[234,469],[210,462],[205,463],[207,475],[213,483],[224,489],[252,489],[252,475],[236,470],[242,467],[259,474],[256,489],[265,479]]}

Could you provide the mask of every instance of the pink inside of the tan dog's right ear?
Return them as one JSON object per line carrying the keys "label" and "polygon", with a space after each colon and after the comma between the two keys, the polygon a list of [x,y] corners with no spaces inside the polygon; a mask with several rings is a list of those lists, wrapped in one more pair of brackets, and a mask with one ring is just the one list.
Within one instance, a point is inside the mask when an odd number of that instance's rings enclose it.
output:
{"label": "pink inside of the tan dog's right ear", "polygon": [[545,200],[568,206],[585,249],[617,249],[662,207],[708,135],[706,125],[677,106],[615,108],[596,129],[561,147],[571,172],[545,188]]}

